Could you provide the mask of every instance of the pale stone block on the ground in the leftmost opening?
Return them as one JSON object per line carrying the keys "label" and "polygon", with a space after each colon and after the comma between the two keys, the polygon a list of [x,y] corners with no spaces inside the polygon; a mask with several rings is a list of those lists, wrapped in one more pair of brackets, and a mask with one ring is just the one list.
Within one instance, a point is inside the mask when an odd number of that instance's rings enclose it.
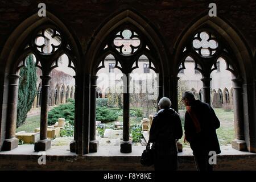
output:
{"label": "pale stone block on the ground in the leftmost opening", "polygon": [[23,140],[24,143],[29,143],[29,144],[37,142],[40,138],[39,132],[29,133],[26,131],[19,131],[15,135],[16,135],[16,138],[18,138],[19,140]]}

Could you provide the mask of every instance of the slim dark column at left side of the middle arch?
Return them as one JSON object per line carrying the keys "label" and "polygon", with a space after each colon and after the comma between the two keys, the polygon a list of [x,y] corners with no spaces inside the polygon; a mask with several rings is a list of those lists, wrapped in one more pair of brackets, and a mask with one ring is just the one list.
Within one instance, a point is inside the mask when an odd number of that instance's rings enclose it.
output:
{"label": "slim dark column at left side of the middle arch", "polygon": [[90,143],[89,152],[98,151],[98,141],[96,140],[96,87],[98,76],[90,76]]}

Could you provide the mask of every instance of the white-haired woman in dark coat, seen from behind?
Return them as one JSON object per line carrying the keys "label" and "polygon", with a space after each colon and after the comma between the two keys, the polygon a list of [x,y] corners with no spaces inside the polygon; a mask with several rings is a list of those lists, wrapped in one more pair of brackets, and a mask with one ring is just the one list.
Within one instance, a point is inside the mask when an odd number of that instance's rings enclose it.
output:
{"label": "white-haired woman in dark coat, seen from behind", "polygon": [[161,98],[158,105],[160,110],[152,121],[149,138],[155,146],[155,170],[176,170],[176,139],[180,139],[183,134],[180,116],[171,109],[169,98]]}

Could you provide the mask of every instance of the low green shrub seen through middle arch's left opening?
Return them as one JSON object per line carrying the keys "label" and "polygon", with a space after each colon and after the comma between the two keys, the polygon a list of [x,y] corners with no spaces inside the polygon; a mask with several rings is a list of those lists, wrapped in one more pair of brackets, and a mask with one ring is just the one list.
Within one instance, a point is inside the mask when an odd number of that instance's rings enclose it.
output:
{"label": "low green shrub seen through middle arch's left opening", "polygon": [[101,122],[117,121],[118,113],[107,107],[96,108],[96,120]]}

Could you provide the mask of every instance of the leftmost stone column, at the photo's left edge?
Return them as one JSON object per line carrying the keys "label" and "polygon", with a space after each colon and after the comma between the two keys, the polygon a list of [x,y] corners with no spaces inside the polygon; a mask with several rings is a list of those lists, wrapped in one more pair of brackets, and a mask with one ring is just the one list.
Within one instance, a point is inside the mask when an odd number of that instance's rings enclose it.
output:
{"label": "leftmost stone column, at the photo's left edge", "polygon": [[6,139],[3,141],[3,151],[18,147],[19,139],[15,138],[19,75],[9,75],[9,93],[6,117]]}

